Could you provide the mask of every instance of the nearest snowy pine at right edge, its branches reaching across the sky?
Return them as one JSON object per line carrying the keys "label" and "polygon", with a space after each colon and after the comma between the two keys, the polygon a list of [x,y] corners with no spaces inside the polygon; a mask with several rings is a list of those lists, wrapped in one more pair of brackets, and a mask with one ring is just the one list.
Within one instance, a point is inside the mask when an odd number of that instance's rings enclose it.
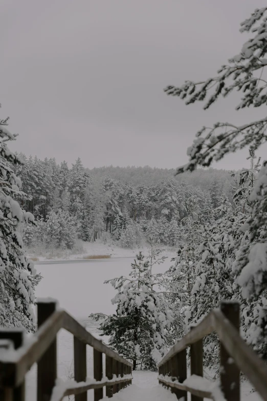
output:
{"label": "nearest snowy pine at right edge, its branches reaching across the sky", "polygon": [[[256,9],[241,23],[241,32],[252,32],[253,37],[243,44],[241,51],[223,65],[215,77],[206,81],[187,80],[182,87],[169,86],[169,95],[180,96],[186,104],[203,101],[213,88],[213,94],[206,102],[208,109],[219,96],[226,97],[237,89],[242,93],[236,110],[245,107],[260,107],[266,104],[267,83],[262,78],[267,66],[267,7]],[[260,73],[259,73],[260,72]],[[232,81],[231,81],[232,79]],[[251,152],[266,142],[267,117],[237,126],[228,122],[217,122],[212,128],[203,127],[196,134],[196,139],[188,149],[189,162],[177,169],[177,173],[195,170],[197,165],[210,166],[222,159],[229,152],[236,152],[249,146]],[[260,353],[267,358],[265,328],[267,325],[267,307],[265,291],[267,284],[267,162],[262,163],[258,181],[250,196],[251,217],[240,227],[243,234],[235,255],[233,270],[238,275],[237,283],[243,297],[250,300],[263,295],[262,304],[255,307],[253,316],[254,343],[261,344]],[[249,320],[248,320],[249,321]],[[250,322],[251,323],[251,322]],[[262,340],[262,341],[261,341]]]}

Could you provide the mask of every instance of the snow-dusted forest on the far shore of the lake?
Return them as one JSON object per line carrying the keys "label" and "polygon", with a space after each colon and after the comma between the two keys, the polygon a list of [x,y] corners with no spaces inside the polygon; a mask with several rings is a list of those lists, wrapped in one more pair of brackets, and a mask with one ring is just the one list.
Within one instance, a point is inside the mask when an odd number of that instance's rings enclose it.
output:
{"label": "snow-dusted forest on the far shore of the lake", "polygon": [[[141,167],[117,167],[116,174],[107,167],[104,170],[113,173],[111,178],[102,175],[103,168],[87,170],[80,158],[69,168],[65,161],[18,157],[23,164],[15,167],[15,173],[28,195],[21,207],[36,219],[35,226],[23,227],[27,246],[38,243],[72,249],[75,238],[95,241],[102,231],[109,231],[123,247],[140,245],[152,231],[161,244],[175,246],[187,217],[206,221],[209,208],[225,199],[232,203],[233,180],[226,171],[202,170],[202,179],[194,185],[191,176],[179,181],[172,171],[168,175],[163,169],[143,167],[155,176],[147,185],[142,182]],[[131,172],[133,182],[127,181],[125,172]]]}

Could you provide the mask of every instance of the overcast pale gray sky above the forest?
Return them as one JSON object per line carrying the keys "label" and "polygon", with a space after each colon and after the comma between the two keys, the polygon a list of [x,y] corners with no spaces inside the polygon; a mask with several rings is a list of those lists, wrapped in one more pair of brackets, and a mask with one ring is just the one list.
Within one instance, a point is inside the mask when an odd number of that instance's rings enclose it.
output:
{"label": "overcast pale gray sky above the forest", "polygon": [[[176,167],[202,125],[241,124],[238,96],[185,106],[163,88],[213,76],[265,0],[0,0],[1,117],[12,149],[86,167]],[[259,152],[262,156],[265,147]],[[264,152],[263,152],[264,151]],[[240,168],[242,152],[214,164]]]}

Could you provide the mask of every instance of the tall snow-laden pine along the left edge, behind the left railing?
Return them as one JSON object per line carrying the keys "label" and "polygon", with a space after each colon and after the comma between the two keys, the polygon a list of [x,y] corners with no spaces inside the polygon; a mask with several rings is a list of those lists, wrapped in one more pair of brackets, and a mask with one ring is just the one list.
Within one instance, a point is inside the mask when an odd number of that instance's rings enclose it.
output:
{"label": "tall snow-laden pine along the left edge, behind the left railing", "polygon": [[21,181],[13,171],[13,166],[23,161],[7,147],[7,142],[16,137],[7,130],[7,122],[8,119],[0,120],[0,326],[24,326],[33,331],[34,288],[40,276],[26,258],[17,229],[19,223],[31,224],[34,218],[31,213],[21,210],[17,202],[27,198],[21,192]]}

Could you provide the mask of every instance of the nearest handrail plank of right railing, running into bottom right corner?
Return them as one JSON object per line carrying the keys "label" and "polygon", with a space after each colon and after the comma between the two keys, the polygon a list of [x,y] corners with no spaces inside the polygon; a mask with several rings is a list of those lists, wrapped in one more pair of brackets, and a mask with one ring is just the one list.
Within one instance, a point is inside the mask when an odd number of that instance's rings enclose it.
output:
{"label": "nearest handrail plank of right railing, running into bottom right corner", "polygon": [[236,328],[220,310],[212,312],[213,324],[225,349],[235,364],[248,377],[264,401],[267,401],[267,367],[243,341]]}

